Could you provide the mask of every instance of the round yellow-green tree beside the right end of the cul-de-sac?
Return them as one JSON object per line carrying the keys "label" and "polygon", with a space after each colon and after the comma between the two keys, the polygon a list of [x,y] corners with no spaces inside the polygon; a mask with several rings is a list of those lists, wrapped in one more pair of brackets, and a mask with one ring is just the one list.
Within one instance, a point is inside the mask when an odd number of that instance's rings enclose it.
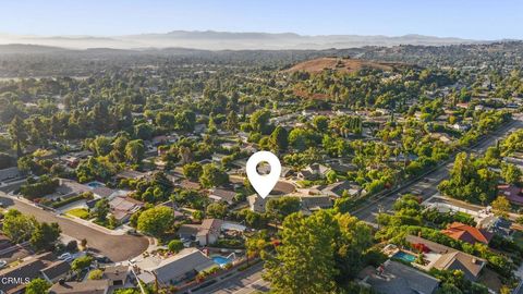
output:
{"label": "round yellow-green tree beside the right end of the cul-de-sac", "polygon": [[163,236],[174,224],[172,210],[165,206],[157,206],[145,210],[138,217],[138,231],[156,237]]}

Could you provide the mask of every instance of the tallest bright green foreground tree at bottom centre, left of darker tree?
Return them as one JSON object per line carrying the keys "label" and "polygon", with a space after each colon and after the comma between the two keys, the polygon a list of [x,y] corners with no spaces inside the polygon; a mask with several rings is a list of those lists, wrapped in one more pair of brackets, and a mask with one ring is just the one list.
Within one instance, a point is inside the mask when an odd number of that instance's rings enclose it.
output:
{"label": "tallest bright green foreground tree at bottom centre, left of darker tree", "polygon": [[[265,255],[266,273],[276,293],[333,293],[339,274],[335,261],[336,223],[331,215],[318,211],[309,218],[289,216],[280,231],[277,255]],[[304,291],[306,290],[306,291]]]}

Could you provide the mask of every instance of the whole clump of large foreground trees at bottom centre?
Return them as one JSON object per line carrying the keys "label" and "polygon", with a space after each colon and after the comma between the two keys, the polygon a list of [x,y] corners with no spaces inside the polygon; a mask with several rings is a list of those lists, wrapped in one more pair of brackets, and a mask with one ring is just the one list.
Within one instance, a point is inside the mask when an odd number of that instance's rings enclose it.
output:
{"label": "whole clump of large foreground trees at bottom centre", "polygon": [[[280,231],[276,256],[263,254],[266,278],[276,293],[343,293],[364,266],[372,245],[368,225],[348,213],[292,213]],[[303,290],[306,289],[306,292]]]}

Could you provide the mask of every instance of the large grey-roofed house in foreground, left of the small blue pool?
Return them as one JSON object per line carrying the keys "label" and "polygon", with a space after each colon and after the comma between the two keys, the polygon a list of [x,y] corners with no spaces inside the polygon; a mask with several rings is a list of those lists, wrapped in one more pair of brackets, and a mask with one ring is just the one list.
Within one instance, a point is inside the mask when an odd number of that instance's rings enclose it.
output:
{"label": "large grey-roofed house in foreground, left of the small blue pool", "polygon": [[191,280],[198,272],[215,267],[216,264],[197,248],[185,248],[179,254],[161,259],[149,256],[137,262],[141,269],[138,279],[145,283],[155,282],[155,275],[161,285],[170,285],[183,280]]}

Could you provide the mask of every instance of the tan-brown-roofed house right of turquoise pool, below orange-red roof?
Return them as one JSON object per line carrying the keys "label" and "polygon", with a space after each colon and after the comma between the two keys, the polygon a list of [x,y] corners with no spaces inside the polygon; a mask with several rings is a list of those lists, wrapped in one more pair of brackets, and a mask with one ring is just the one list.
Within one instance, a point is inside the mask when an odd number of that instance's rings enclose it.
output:
{"label": "tan-brown-roofed house right of turquoise pool, below orange-red roof", "polygon": [[454,248],[428,241],[423,237],[406,235],[405,241],[413,246],[423,246],[430,253],[433,259],[428,269],[461,270],[466,279],[476,281],[487,260]]}

